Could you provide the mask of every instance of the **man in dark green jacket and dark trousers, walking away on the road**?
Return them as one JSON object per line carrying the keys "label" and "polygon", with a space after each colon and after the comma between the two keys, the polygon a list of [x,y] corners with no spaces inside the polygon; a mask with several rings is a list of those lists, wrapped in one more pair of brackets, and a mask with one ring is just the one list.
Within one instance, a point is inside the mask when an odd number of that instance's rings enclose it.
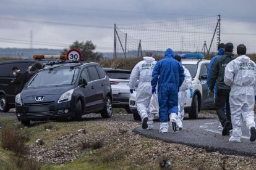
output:
{"label": "man in dark green jacket and dark trousers, walking away on the road", "polygon": [[[220,119],[220,123],[223,126],[222,135],[228,136],[229,131],[232,129],[231,113],[229,106],[229,92],[230,86],[224,83],[224,71],[226,65],[234,60],[233,44],[228,42],[225,44],[225,52],[222,57],[218,57],[213,63],[210,76],[209,91],[214,92],[214,86],[217,86],[217,96],[215,100],[215,108]],[[226,114],[225,114],[226,108]]]}

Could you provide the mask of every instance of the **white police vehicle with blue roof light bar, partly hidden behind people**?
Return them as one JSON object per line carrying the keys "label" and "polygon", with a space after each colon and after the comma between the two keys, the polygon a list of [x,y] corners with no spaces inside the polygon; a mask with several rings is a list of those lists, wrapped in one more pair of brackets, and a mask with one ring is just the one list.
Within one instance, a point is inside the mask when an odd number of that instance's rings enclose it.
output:
{"label": "white police vehicle with blue roof light bar, partly hidden behind people", "polygon": [[[210,60],[203,59],[202,54],[181,54],[182,65],[189,70],[192,76],[193,97],[190,98],[190,91],[187,90],[187,100],[184,110],[189,113],[189,119],[197,119],[200,110],[215,108],[214,95],[208,93],[207,70]],[[130,94],[129,107],[135,120],[140,120],[136,105],[136,92]]]}

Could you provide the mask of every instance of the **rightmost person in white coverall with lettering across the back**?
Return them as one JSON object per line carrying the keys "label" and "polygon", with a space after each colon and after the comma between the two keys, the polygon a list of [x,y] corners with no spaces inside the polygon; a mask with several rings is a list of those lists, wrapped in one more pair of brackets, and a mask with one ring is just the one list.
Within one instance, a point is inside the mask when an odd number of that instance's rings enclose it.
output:
{"label": "rightmost person in white coverall with lettering across the back", "polygon": [[247,57],[244,44],[237,46],[239,57],[228,63],[224,73],[224,83],[231,86],[229,103],[233,125],[229,142],[241,142],[241,126],[244,120],[250,130],[250,141],[256,140],[254,103],[256,90],[256,65]]}

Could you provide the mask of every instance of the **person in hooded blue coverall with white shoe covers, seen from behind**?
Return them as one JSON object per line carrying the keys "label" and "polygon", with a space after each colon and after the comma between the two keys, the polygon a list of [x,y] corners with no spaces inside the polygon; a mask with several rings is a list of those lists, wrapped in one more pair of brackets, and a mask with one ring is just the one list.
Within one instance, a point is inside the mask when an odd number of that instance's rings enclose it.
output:
{"label": "person in hooded blue coverall with white shoe covers, seen from behind", "polygon": [[[178,92],[184,81],[184,70],[180,62],[173,59],[172,49],[167,49],[164,59],[156,63],[151,79],[152,93],[156,92],[158,85],[159,103],[159,132],[168,132],[168,116],[173,128],[177,123],[178,114]],[[170,124],[171,125],[171,124]]]}

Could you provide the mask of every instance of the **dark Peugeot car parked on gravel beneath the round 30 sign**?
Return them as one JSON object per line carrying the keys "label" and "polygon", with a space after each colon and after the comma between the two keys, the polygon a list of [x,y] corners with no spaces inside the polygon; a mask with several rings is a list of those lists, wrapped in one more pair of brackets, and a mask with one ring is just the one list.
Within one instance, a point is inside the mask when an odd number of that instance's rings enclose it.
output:
{"label": "dark Peugeot car parked on gravel beneath the round 30 sign", "polygon": [[16,115],[25,126],[32,121],[100,113],[110,118],[113,97],[108,76],[98,63],[64,63],[38,71],[15,97]]}

